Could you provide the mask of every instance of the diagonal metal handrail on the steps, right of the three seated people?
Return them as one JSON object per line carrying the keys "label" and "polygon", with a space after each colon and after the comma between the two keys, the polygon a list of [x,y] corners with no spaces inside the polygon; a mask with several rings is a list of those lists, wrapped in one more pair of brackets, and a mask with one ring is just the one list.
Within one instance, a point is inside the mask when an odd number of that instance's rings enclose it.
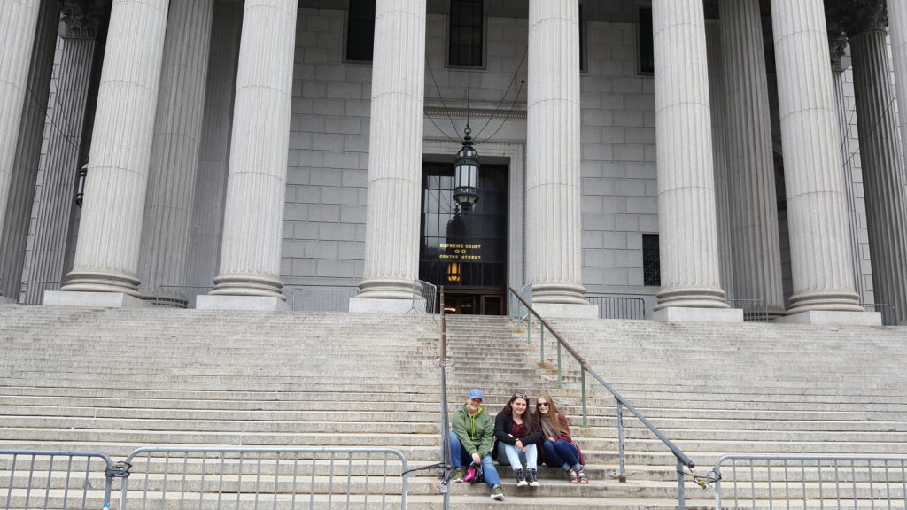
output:
{"label": "diagonal metal handrail on the steps, right of the three seated people", "polygon": [[[589,372],[590,375],[591,375],[593,378],[595,378],[597,381],[599,381],[600,385],[601,385],[602,387],[605,387],[605,389],[607,389],[607,390],[610,392],[610,394],[611,394],[612,396],[614,396],[614,398],[618,401],[618,447],[619,447],[619,462],[620,462],[619,480],[620,480],[621,482],[626,482],[626,481],[627,481],[627,475],[626,475],[626,471],[625,471],[625,469],[624,469],[623,419],[622,419],[622,417],[623,417],[623,411],[622,411],[622,408],[621,408],[621,407],[627,407],[627,409],[629,410],[629,412],[632,413],[633,416],[637,417],[637,418],[639,419],[639,421],[642,422],[643,425],[645,425],[647,428],[649,428],[649,431],[651,431],[652,434],[654,434],[656,437],[658,437],[658,439],[659,439],[665,446],[668,446],[668,449],[670,449],[671,453],[677,458],[677,461],[678,461],[678,507],[679,507],[680,510],[684,510],[684,508],[685,508],[685,499],[686,499],[686,498],[685,498],[685,495],[684,495],[683,476],[684,476],[686,473],[684,472],[683,467],[684,467],[684,466],[687,466],[689,469],[692,470],[693,467],[696,466],[696,463],[694,463],[694,462],[687,456],[687,454],[683,453],[683,452],[680,450],[680,448],[678,448],[677,445],[675,445],[673,442],[671,442],[671,440],[668,439],[668,437],[666,437],[664,434],[662,434],[661,431],[658,430],[658,427],[655,427],[654,425],[652,425],[651,422],[649,422],[649,420],[646,419],[646,417],[642,416],[642,413],[640,413],[639,410],[637,410],[636,407],[633,407],[633,406],[627,401],[626,398],[624,398],[622,395],[620,395],[619,392],[618,392],[616,389],[614,389],[614,387],[611,387],[611,385],[608,384],[608,381],[606,381],[605,379],[601,378],[601,377],[599,376],[599,374],[597,374],[597,373],[595,372],[595,370],[593,370],[593,369],[591,368],[591,366],[590,366],[590,364],[589,364],[589,361],[587,361],[585,358],[583,358],[582,356],[580,356],[580,353],[579,353],[576,349],[574,349],[574,348],[573,348],[566,340],[564,340],[563,338],[561,338],[561,335],[559,335],[559,334],[557,333],[557,331],[555,331],[553,328],[551,328],[551,325],[549,325],[548,322],[545,321],[545,319],[542,319],[542,318],[541,318],[541,315],[539,315],[539,313],[538,313],[537,311],[535,311],[535,309],[532,309],[532,306],[530,306],[529,303],[527,303],[524,299],[522,299],[522,297],[517,293],[516,290],[514,290],[512,287],[508,287],[508,289],[510,289],[511,294],[512,294],[513,296],[515,296],[516,299],[519,299],[520,302],[522,303],[522,305],[523,305],[524,307],[526,307],[526,309],[529,310],[530,314],[531,314],[533,317],[535,317],[535,319],[538,319],[538,320],[539,320],[539,323],[541,324],[541,326],[542,326],[544,329],[548,329],[549,333],[551,333],[551,336],[553,336],[554,338],[556,338],[556,339],[558,340],[558,348],[559,348],[559,350],[558,350],[559,357],[558,357],[558,358],[559,358],[559,360],[560,360],[560,349],[563,348],[563,349],[565,349],[567,352],[569,352],[570,355],[573,357],[573,359],[575,359],[575,360],[580,364],[580,368],[581,368],[580,375],[582,376],[581,384],[582,384],[582,419],[583,419],[583,426],[584,426],[584,427],[586,426],[586,424],[587,424],[587,417],[588,417],[587,409],[586,409],[586,378],[585,378],[585,373],[586,373],[586,372]],[[532,326],[530,326],[529,329],[531,330],[531,329],[532,329]],[[543,338],[543,337],[542,337],[541,342],[542,342],[542,345],[543,345],[543,342],[544,342],[544,338]],[[560,369],[560,367],[559,367],[559,368],[558,368],[558,378],[560,379],[560,377],[561,377],[561,369]]]}

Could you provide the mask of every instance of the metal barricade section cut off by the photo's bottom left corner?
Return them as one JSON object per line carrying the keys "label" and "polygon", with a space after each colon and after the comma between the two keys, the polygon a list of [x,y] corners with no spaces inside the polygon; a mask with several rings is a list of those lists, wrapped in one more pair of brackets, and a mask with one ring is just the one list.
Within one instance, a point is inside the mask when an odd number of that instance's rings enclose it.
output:
{"label": "metal barricade section cut off by the photo's bottom left corner", "polygon": [[98,452],[0,450],[0,508],[97,510],[110,505],[116,476]]}

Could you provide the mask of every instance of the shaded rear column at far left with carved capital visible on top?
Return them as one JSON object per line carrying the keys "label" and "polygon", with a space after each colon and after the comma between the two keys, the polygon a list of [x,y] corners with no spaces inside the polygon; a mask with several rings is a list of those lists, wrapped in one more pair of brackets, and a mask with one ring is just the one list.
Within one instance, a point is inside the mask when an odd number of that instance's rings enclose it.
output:
{"label": "shaded rear column at far left with carved capital visible on top", "polygon": [[[97,47],[97,20],[71,7],[64,8],[65,33],[57,66],[52,125],[40,186],[36,191],[27,280],[61,281],[69,239],[78,169],[87,162],[82,152],[83,128]],[[61,126],[54,129],[53,126]],[[29,302],[40,300],[44,289],[28,289]],[[35,295],[37,294],[37,295]]]}

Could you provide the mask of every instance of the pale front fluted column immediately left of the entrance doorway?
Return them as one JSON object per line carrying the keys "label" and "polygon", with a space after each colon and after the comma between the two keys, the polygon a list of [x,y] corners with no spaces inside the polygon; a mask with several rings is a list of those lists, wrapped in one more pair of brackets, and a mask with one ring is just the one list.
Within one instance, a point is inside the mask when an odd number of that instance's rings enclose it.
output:
{"label": "pale front fluted column immediately left of the entrance doorway", "polygon": [[424,2],[377,0],[374,54],[366,260],[349,310],[405,313],[419,278]]}

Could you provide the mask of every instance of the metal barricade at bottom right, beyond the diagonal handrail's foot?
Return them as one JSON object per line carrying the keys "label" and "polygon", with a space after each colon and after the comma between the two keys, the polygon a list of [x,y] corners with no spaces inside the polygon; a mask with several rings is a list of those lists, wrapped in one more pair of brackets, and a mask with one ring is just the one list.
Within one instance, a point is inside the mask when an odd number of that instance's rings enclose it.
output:
{"label": "metal barricade at bottom right, beyond the diagonal handrail's foot", "polygon": [[905,508],[907,456],[727,455],[715,508]]}

